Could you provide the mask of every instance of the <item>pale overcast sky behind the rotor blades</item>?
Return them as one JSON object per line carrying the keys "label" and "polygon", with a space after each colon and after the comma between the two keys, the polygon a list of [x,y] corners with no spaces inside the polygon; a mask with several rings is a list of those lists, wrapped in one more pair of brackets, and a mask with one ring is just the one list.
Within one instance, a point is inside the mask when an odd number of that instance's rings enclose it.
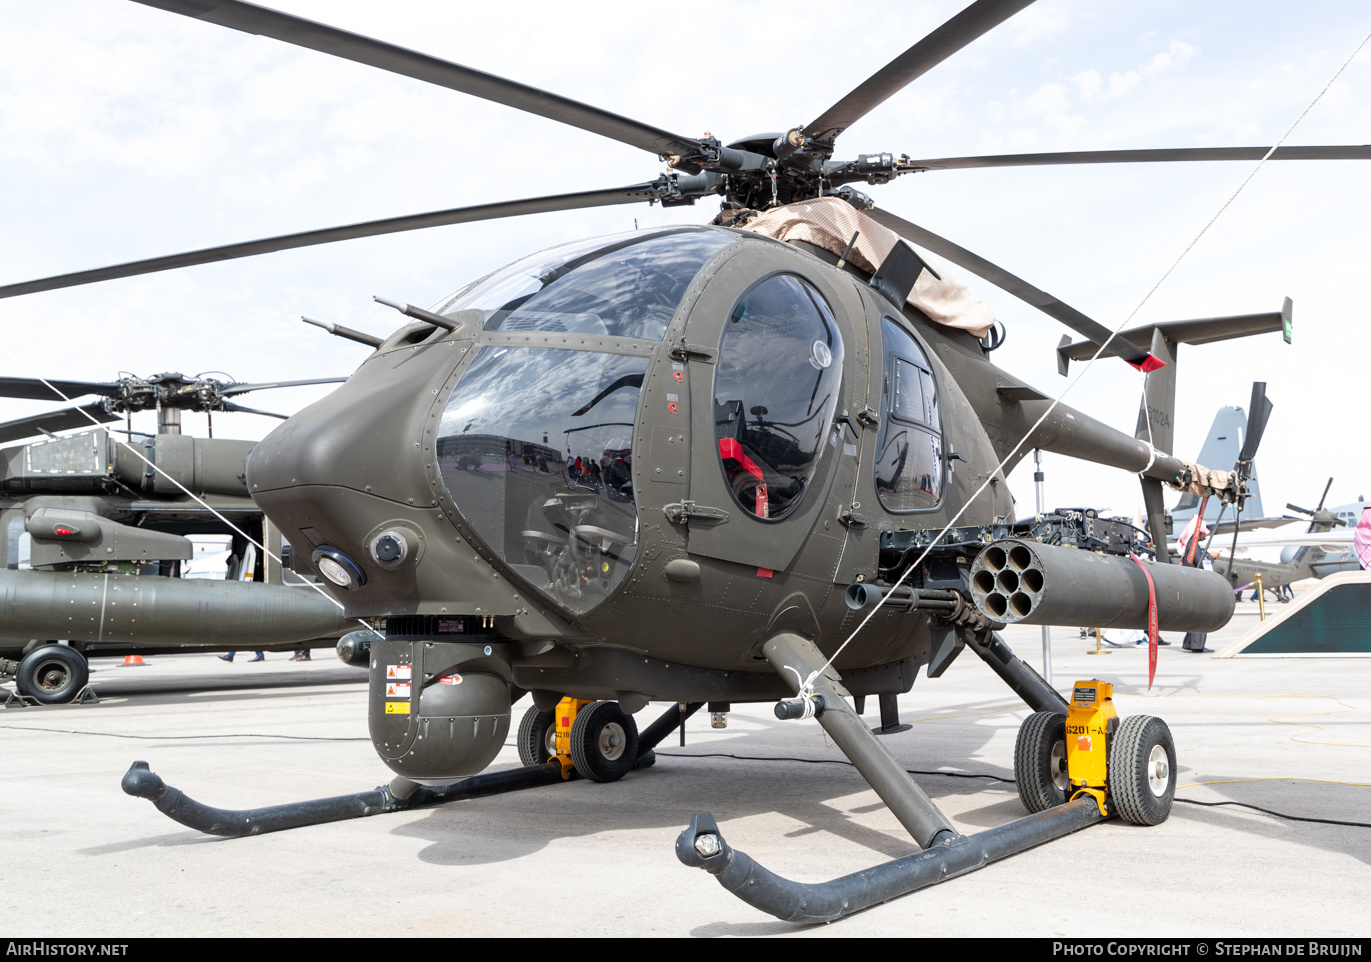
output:
{"label": "pale overcast sky behind the rotor blades", "polygon": [[[813,119],[964,3],[276,5],[728,141]],[[1038,0],[854,125],[839,155],[1267,145],[1368,30],[1364,0]],[[1287,143],[1371,143],[1371,48]],[[945,171],[871,193],[1112,328],[1250,169]],[[133,3],[0,0],[0,282],[659,170],[651,155],[551,121]],[[1268,163],[1134,321],[1294,299],[1293,345],[1267,334],[1180,348],[1178,455],[1197,456],[1215,410],[1246,407],[1252,381],[1270,382],[1259,458],[1268,513],[1316,500],[1328,476],[1330,503],[1371,495],[1368,174],[1368,162]],[[372,295],[428,306],[550,244],[716,210],[546,214],[4,300],[0,374],[348,374],[365,348],[300,314],[384,334],[400,318]],[[1061,325],[971,280],[1009,332],[995,360],[1061,391]],[[1105,359],[1068,402],[1131,433],[1139,391],[1139,374]],[[317,396],[244,400],[289,412]],[[0,421],[40,410],[0,400]],[[221,415],[215,428],[256,439],[276,423]],[[203,418],[186,429],[202,433]],[[1045,460],[1052,504],[1134,514],[1141,503],[1124,473]],[[1031,466],[1010,485],[1031,511]]]}

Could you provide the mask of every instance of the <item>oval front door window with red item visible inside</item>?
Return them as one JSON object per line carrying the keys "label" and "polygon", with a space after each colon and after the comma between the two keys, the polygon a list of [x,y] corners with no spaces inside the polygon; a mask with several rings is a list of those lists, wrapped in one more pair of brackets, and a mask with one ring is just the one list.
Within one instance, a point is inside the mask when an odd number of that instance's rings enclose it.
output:
{"label": "oval front door window with red item visible inside", "polygon": [[776,274],[739,297],[718,344],[714,439],[728,486],[753,517],[783,518],[803,499],[842,377],[842,337],[813,285]]}

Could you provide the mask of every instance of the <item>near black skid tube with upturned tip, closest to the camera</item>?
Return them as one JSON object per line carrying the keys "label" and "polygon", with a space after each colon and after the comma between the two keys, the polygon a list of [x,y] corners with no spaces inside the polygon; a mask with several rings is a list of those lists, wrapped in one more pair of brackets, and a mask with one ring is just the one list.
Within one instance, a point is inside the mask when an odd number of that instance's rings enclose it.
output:
{"label": "near black skid tube with upturned tip, closest to the camera", "polygon": [[[1079,798],[975,835],[942,836],[931,848],[827,883],[797,883],[732,848],[713,815],[695,815],[676,839],[676,856],[703,869],[739,899],[787,922],[832,922],[945,878],[1079,832],[1101,821],[1100,806]],[[705,852],[712,852],[706,855]]]}

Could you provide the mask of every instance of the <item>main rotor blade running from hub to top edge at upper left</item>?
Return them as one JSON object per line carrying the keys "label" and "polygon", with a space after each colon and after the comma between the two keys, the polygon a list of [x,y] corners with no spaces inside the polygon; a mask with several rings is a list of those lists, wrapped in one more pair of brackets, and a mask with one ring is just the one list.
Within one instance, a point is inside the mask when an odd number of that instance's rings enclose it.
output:
{"label": "main rotor blade running from hub to top edge at upper left", "polygon": [[[387,44],[372,37],[348,33],[337,27],[292,16],[267,7],[258,7],[240,0],[134,0],[147,7],[156,7],[182,16],[191,16],[210,23],[218,23],[243,33],[271,37],[296,47],[306,47],[321,53],[365,63],[369,67],[388,70],[392,74],[413,77],[428,84],[446,86],[451,90],[470,93],[483,100],[492,100],[506,107],[514,107],[529,114],[537,114],[561,123],[590,130],[591,133],[617,140],[621,144],[639,147],[650,153],[696,153],[699,141],[681,137],[669,130],[639,123],[627,116],[611,114],[599,107],[591,107],[568,97],[561,97],[536,86],[517,84],[503,77],[487,74],[459,63],[441,60],[428,53]],[[513,12],[513,11],[511,11]]]}

